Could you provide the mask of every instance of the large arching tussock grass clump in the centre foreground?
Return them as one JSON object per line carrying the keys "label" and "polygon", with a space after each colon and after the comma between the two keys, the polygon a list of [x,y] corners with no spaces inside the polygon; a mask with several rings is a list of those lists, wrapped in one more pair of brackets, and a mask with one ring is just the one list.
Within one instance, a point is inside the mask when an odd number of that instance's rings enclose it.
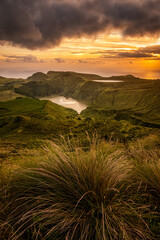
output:
{"label": "large arching tussock grass clump in the centre foreground", "polygon": [[122,150],[50,143],[39,158],[10,182],[9,239],[150,239]]}

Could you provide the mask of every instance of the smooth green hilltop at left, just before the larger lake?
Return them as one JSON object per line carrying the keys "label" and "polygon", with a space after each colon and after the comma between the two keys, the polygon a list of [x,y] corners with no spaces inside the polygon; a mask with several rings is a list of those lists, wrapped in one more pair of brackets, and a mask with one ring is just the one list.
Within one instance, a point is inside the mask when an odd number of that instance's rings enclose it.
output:
{"label": "smooth green hilltop at left, just before the larger lake", "polygon": [[63,120],[69,116],[75,116],[76,111],[57,105],[47,100],[32,98],[18,98],[12,101],[1,102],[0,112],[2,117],[15,117],[18,115],[35,117],[39,119]]}

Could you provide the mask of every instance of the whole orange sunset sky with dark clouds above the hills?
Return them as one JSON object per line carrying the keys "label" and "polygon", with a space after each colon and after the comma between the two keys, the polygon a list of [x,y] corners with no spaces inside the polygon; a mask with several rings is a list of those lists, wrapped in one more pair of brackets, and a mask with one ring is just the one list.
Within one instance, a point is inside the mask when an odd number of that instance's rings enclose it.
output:
{"label": "whole orange sunset sky with dark clouds above the hills", "polygon": [[160,0],[1,0],[0,75],[160,78]]}

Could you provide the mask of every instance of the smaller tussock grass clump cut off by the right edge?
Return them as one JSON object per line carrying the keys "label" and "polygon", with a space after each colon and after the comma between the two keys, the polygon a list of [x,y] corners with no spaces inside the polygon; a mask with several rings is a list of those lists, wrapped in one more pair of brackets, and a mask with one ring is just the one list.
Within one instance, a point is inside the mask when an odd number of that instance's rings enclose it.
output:
{"label": "smaller tussock grass clump cut off by the right edge", "polygon": [[160,203],[160,137],[150,135],[137,141],[129,149],[133,165],[132,174],[147,185],[153,196],[159,195]]}

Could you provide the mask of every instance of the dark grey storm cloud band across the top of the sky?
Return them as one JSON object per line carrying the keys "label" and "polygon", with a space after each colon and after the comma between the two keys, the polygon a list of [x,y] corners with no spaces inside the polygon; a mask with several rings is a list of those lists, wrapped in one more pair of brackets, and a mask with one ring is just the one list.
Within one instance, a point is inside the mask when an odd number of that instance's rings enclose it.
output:
{"label": "dark grey storm cloud band across the top of the sky", "polygon": [[1,0],[0,41],[51,48],[64,37],[118,28],[126,36],[160,34],[160,0]]}

